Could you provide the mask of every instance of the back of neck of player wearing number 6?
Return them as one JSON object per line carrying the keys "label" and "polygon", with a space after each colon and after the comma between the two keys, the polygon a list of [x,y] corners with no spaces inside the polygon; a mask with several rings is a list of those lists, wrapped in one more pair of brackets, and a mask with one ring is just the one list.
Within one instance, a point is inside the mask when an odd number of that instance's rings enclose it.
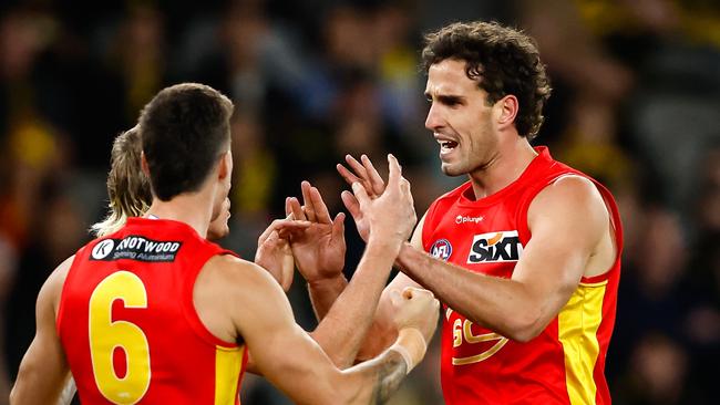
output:
{"label": "back of neck of player wearing number 6", "polygon": [[207,193],[185,193],[173,197],[169,201],[153,198],[153,204],[145,217],[172,219],[191,226],[203,238],[207,237],[207,228],[213,216],[213,208]]}

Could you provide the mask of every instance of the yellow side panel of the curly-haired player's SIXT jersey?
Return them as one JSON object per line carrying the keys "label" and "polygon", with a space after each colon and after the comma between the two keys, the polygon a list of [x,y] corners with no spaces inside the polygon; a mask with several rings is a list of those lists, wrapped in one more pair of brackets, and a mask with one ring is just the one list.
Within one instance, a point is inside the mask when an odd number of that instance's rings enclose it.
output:
{"label": "yellow side panel of the curly-haired player's SIXT jersey", "polygon": [[607,281],[580,283],[557,316],[557,335],[565,353],[565,384],[570,404],[595,404],[593,377],[600,351],[597,330],[603,321]]}

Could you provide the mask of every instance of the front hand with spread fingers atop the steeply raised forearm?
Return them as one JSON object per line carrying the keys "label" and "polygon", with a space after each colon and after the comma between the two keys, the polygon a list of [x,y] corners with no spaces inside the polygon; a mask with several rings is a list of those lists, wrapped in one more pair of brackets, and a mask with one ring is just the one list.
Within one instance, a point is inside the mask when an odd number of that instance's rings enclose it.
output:
{"label": "front hand with spread fingers atop the steeply raised forearm", "polygon": [[356,181],[352,184],[353,194],[343,191],[341,197],[366,241],[380,238],[402,243],[412,232],[418,217],[410,183],[402,177],[398,159],[388,155],[388,166],[390,174],[382,195],[373,198],[361,181]]}

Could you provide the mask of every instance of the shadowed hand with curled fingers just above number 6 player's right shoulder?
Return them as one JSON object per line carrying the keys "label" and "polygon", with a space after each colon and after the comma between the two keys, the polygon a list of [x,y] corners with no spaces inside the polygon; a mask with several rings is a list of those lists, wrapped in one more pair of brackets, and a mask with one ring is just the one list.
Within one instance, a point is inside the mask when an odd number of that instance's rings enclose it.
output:
{"label": "shadowed hand with curled fingers just above number 6 player's right shoulder", "polygon": [[265,268],[285,291],[290,289],[295,273],[290,236],[308,227],[307,220],[276,219],[258,238],[255,263]]}

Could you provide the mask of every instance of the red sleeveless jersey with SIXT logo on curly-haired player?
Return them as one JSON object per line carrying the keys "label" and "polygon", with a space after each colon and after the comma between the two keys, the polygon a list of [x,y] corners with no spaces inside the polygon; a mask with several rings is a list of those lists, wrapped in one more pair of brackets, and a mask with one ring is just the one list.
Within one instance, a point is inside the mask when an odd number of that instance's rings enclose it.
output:
{"label": "red sleeveless jersey with SIXT logo on curly-haired player", "polygon": [[[423,246],[469,271],[511,278],[531,239],[527,208],[547,185],[586,175],[553,160],[545,147],[521,177],[474,200],[470,183],[435,200]],[[589,177],[588,177],[589,178]],[[605,356],[615,323],[623,232],[610,193],[593,180],[610,212],[618,255],[607,273],[583,278],[559,314],[527,343],[481,328],[444,307],[441,374],[449,405],[609,404]]]}

